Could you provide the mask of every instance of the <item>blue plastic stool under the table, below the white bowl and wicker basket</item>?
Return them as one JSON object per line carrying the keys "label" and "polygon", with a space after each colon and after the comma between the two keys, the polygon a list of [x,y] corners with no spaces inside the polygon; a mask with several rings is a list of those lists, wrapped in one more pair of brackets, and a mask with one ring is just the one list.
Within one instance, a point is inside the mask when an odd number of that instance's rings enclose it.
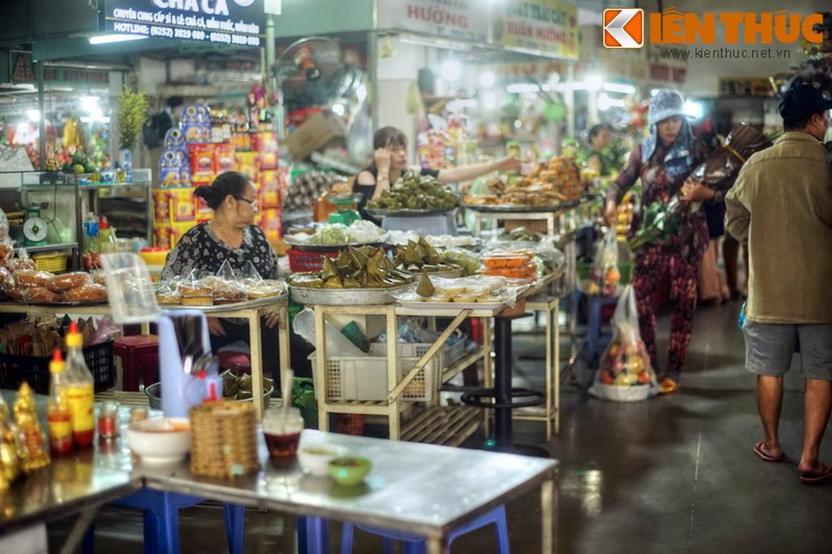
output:
{"label": "blue plastic stool under the table, below the white bowl and wicker basket", "polygon": [[[142,489],[113,503],[117,506],[140,508],[143,511],[146,554],[167,554],[180,552],[179,510],[204,501],[205,498],[187,494]],[[228,551],[231,554],[242,554],[245,507],[223,503],[222,510],[225,515]],[[93,552],[94,532],[94,527],[90,526],[82,542],[84,554]]]}

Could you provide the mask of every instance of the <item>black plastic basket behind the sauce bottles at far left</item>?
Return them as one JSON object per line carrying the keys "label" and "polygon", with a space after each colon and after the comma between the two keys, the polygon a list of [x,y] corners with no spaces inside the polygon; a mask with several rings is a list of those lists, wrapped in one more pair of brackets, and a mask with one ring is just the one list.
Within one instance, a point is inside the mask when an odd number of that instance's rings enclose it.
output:
{"label": "black plastic basket behind the sauce bottles at far left", "polygon": [[[112,388],[116,384],[116,370],[112,359],[112,343],[92,344],[83,349],[87,367],[95,379],[96,391]],[[0,388],[16,389],[26,381],[32,390],[49,393],[49,361],[52,357],[16,356],[0,354]]]}

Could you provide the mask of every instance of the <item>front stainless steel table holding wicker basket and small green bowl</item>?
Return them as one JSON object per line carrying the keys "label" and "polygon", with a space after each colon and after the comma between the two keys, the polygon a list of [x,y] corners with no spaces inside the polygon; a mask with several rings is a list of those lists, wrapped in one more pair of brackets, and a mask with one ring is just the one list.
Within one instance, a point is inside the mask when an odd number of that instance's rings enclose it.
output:
{"label": "front stainless steel table holding wicker basket and small green bowl", "polygon": [[310,554],[329,552],[329,519],[418,533],[430,554],[448,552],[445,537],[454,527],[539,487],[541,552],[555,552],[555,460],[309,430],[301,448],[321,442],[370,458],[364,483],[341,487],[305,476],[296,464],[275,467],[262,442],[264,469],[235,481],[195,477],[186,462],[165,471],[137,465],[133,474],[160,491],[305,516]]}

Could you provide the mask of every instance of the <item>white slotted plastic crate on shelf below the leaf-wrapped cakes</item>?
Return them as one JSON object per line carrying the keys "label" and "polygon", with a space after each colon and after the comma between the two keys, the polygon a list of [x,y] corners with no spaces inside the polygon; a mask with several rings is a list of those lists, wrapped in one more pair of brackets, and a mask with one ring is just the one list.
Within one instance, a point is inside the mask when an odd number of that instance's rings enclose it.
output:
{"label": "white slotted plastic crate on shelf below the leaf-wrapped cakes", "polygon": [[[422,354],[428,351],[430,344],[400,343],[399,378],[413,369]],[[444,348],[443,348],[444,349]],[[443,349],[439,350],[441,354]],[[417,354],[418,353],[418,354]],[[389,391],[387,383],[387,344],[370,344],[369,356],[330,356],[326,360],[326,399],[339,400],[386,400]],[[433,356],[422,371],[416,374],[399,398],[414,402],[430,402],[439,388],[442,370],[441,356]],[[315,363],[315,354],[310,360]],[[319,385],[315,383],[315,398],[318,397]]]}

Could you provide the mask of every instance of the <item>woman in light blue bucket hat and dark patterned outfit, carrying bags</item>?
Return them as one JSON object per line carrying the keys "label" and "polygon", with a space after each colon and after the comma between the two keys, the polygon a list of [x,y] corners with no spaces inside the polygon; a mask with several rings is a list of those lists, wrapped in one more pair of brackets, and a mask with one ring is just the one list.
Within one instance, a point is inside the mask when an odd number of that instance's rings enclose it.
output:
{"label": "woman in light blue bucket hat and dark patterned outfit, carrying bags", "polygon": [[[706,156],[706,148],[698,143],[686,120],[678,92],[664,89],[651,98],[647,113],[650,136],[631,152],[626,167],[607,191],[605,219],[615,221],[618,203],[626,190],[641,179],[644,188],[643,206],[654,202],[668,203],[679,194],[686,177]],[[705,185],[686,190],[686,198],[701,202],[711,200],[714,191]],[[633,222],[633,228],[638,222]],[[702,253],[708,245],[708,229],[701,210],[685,218],[681,229],[670,240],[645,245],[635,252],[632,284],[636,290],[638,323],[641,339],[656,368],[656,316],[654,294],[661,277],[670,272],[671,335],[666,372],[661,379],[661,393],[679,388],[682,366],[691,342],[693,314],[696,309],[696,276]]]}

